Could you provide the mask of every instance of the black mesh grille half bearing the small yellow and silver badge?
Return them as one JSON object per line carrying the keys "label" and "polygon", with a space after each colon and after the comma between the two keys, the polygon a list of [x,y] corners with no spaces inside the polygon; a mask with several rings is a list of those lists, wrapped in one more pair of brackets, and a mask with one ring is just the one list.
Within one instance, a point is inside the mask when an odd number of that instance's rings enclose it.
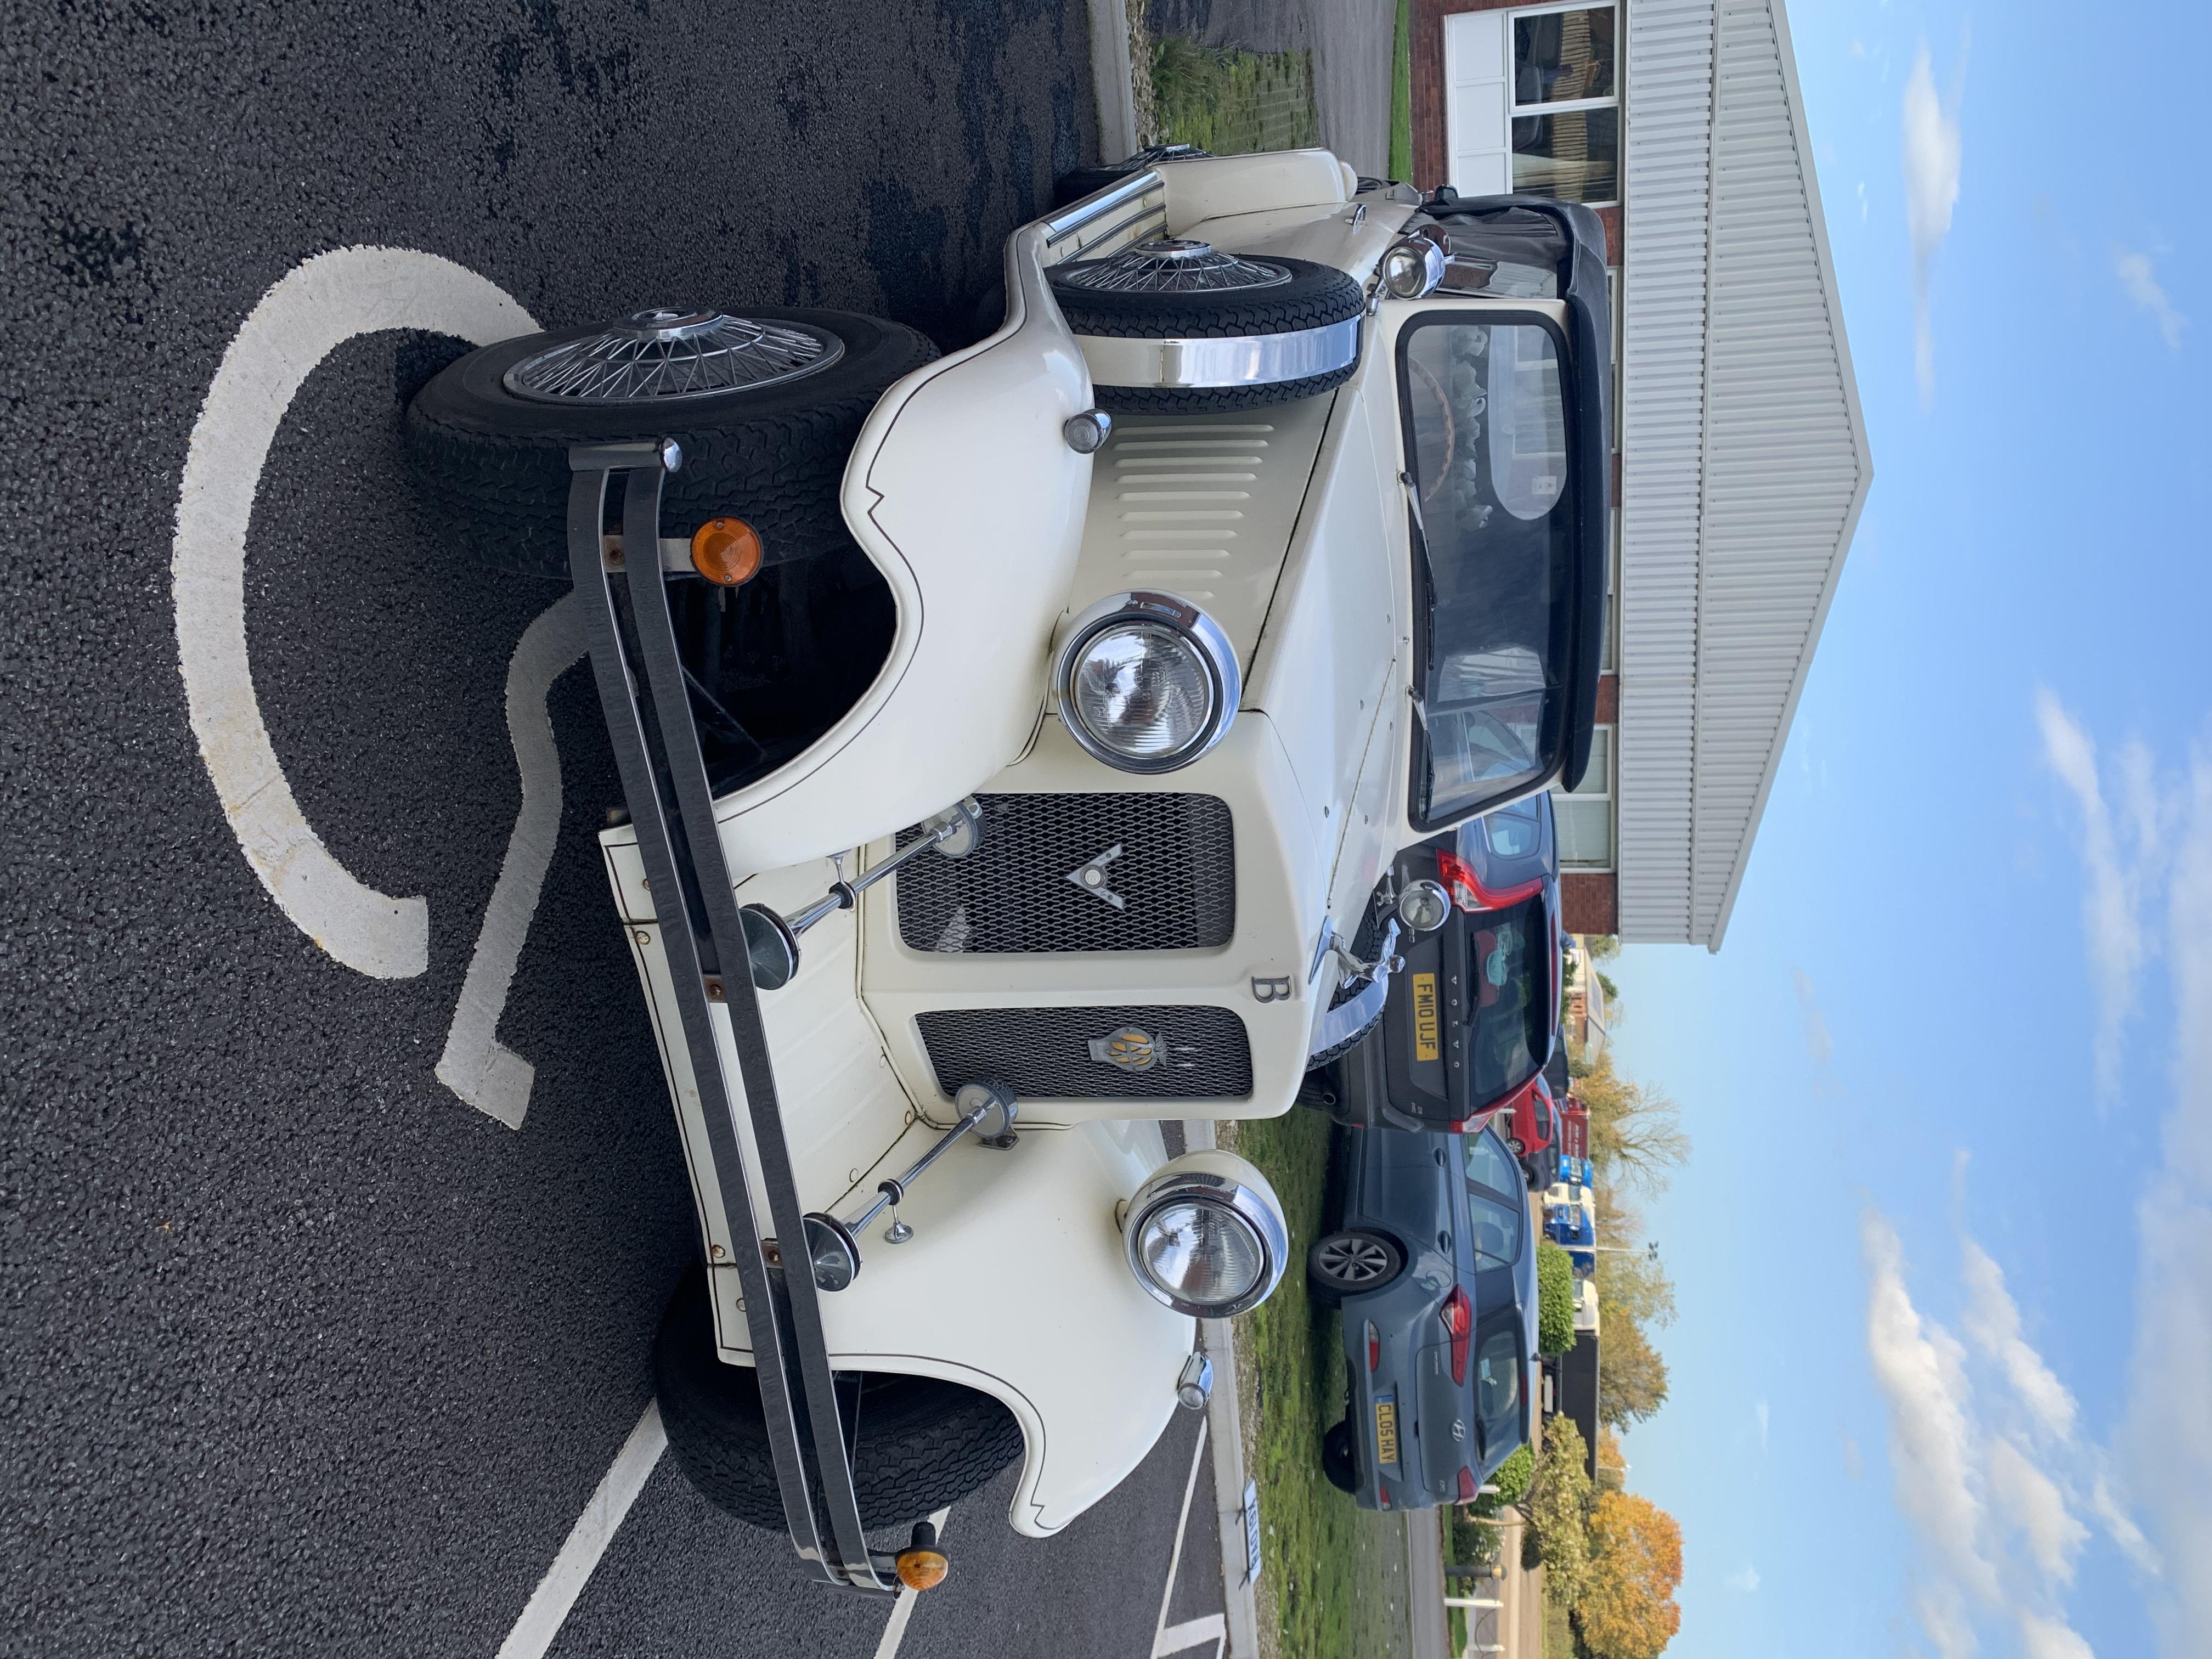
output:
{"label": "black mesh grille half bearing the small yellow and silver badge", "polygon": [[[1252,1042],[1230,1009],[938,1009],[920,1015],[920,1026],[947,1095],[971,1082],[1042,1099],[1252,1093]],[[1155,1062],[1128,1071],[1095,1060],[1095,1042],[1115,1042],[1124,1057],[1150,1048]]]}

